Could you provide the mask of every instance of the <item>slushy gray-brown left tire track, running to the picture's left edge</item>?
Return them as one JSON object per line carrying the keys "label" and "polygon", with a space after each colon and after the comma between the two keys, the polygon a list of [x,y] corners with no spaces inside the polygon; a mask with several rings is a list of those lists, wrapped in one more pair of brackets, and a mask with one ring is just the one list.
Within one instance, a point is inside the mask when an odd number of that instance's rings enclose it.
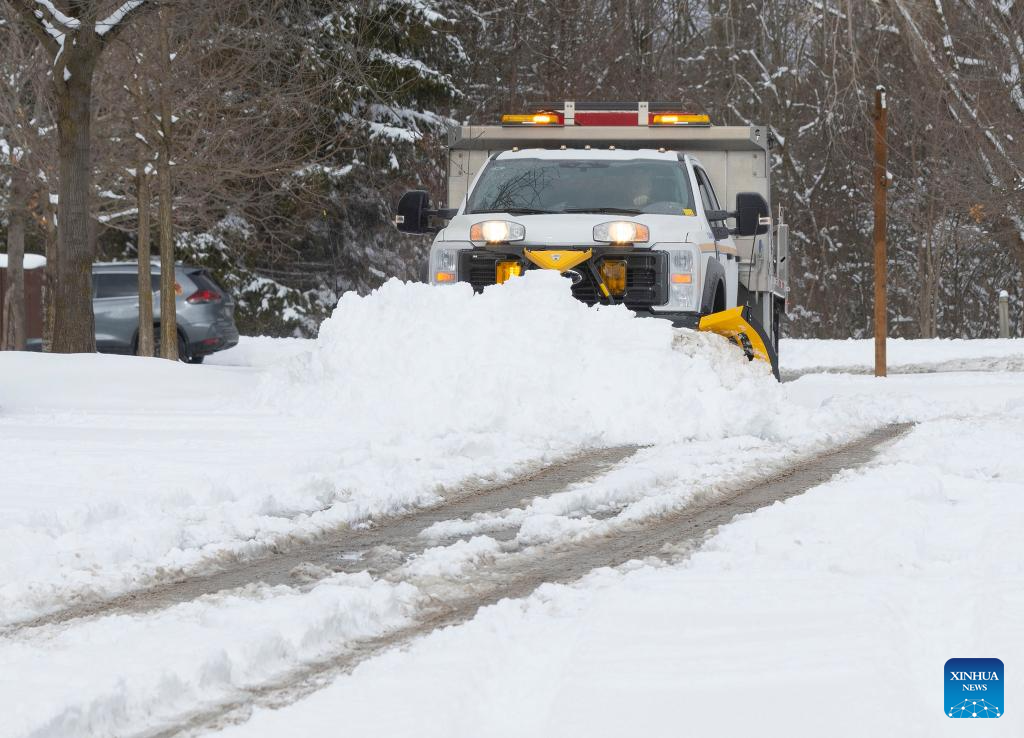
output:
{"label": "slushy gray-brown left tire track, running to the picture's left edge", "polygon": [[336,572],[383,573],[399,565],[410,554],[436,546],[436,542],[419,537],[420,531],[434,523],[500,512],[518,507],[524,500],[554,494],[606,472],[638,448],[616,446],[590,450],[510,482],[482,490],[457,491],[436,506],[373,521],[365,528],[346,527],[311,540],[282,544],[269,556],[247,559],[213,573],[179,578],[115,598],[83,602],[31,620],[10,623],[0,627],[0,636],[86,617],[150,612],[252,583],[296,585],[312,583]]}

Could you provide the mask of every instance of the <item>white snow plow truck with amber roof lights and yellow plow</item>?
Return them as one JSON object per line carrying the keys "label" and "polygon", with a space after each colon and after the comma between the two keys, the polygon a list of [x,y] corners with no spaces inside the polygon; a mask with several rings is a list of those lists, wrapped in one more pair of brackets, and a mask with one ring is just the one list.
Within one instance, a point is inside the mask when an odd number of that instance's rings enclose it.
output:
{"label": "white snow plow truck with amber roof lights and yellow plow", "polygon": [[398,229],[435,234],[430,283],[556,269],[579,300],[720,334],[777,378],[787,229],[771,218],[768,128],[678,103],[529,110],[451,131],[447,208],[402,196]]}

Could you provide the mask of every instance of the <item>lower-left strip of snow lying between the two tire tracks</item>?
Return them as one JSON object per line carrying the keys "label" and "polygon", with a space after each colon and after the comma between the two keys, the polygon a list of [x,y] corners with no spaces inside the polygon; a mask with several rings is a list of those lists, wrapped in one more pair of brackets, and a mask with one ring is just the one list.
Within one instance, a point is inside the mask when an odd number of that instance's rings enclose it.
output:
{"label": "lower-left strip of snow lying between the two tire tracks", "polygon": [[399,627],[419,597],[410,584],[338,574],[308,592],[250,587],[152,615],[4,639],[0,662],[18,679],[0,681],[3,734],[125,735],[280,678],[340,640]]}

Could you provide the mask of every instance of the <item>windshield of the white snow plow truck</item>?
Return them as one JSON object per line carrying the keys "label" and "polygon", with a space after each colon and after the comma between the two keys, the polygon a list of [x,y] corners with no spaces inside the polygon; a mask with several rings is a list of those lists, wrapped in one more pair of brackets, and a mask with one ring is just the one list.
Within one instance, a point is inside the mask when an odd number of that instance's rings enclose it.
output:
{"label": "windshield of the white snow plow truck", "polygon": [[692,215],[693,193],[679,162],[499,159],[480,175],[466,212]]}

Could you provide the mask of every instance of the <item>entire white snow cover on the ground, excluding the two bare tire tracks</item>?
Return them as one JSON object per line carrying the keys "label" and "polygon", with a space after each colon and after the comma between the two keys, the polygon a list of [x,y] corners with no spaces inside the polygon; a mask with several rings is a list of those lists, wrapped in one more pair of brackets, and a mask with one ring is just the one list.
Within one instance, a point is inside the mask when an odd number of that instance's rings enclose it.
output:
{"label": "entire white snow cover on the ground, excluding the two bare tire tracks", "polygon": [[[783,367],[855,365],[854,343],[786,342]],[[994,355],[971,343],[939,343],[935,360],[954,344]],[[992,343],[1024,359],[1024,342]],[[0,448],[15,460],[0,481],[0,626],[581,449],[648,447],[522,509],[439,523],[438,541],[476,537],[400,580],[253,584],[9,631],[0,733],[175,721],[411,622],[438,577],[512,556],[500,528],[523,547],[613,532],[893,421],[920,425],[681,564],[546,585],[225,732],[931,736],[949,730],[947,658],[996,656],[1012,674],[1024,658],[1024,375],[778,385],[717,337],[586,308],[547,273],[475,297],[391,283],[346,296],[315,341],[244,340],[209,363],[0,354]],[[996,725],[1014,735],[1024,689],[1007,690]]]}

